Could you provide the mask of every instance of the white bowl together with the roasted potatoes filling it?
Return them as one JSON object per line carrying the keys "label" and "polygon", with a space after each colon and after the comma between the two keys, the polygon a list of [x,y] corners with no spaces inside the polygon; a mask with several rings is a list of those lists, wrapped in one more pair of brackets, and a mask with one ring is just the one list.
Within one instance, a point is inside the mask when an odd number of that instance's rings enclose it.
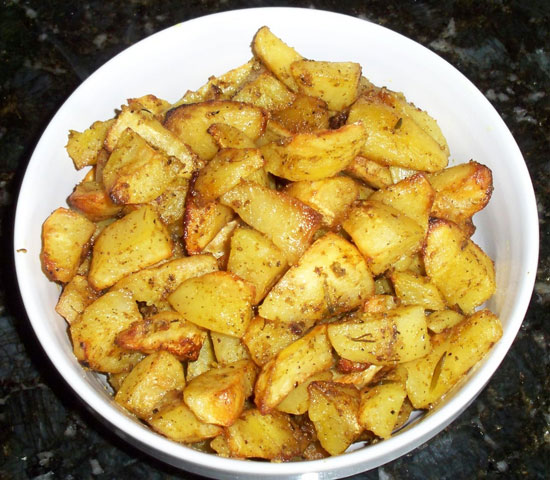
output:
{"label": "white bowl together with the roasted potatoes filling it", "polygon": [[212,477],[337,478],[483,389],[538,220],[456,69],[360,19],[261,8],[91,75],[36,146],[14,248],[45,352],[128,442]]}

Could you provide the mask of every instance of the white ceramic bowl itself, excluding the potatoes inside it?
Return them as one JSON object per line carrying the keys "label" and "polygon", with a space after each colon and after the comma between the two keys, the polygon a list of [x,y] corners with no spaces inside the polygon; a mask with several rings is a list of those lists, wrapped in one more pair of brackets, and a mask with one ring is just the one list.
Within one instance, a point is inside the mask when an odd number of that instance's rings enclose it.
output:
{"label": "white ceramic bowl itself, excluding the potatoes inside it", "polygon": [[[495,260],[498,289],[488,306],[504,335],[468,381],[429,415],[393,438],[351,453],[312,462],[267,464],[230,460],[171,442],[117,407],[101,378],[75,360],[64,320],[54,306],[59,287],[41,271],[40,232],[46,217],[65,204],[82,173],[64,146],[69,129],[107,119],[127,98],[154,93],[170,101],[251,57],[256,30],[268,25],[302,55],[356,61],[377,85],[405,92],[439,122],[454,163],[475,159],[494,174],[489,206],[476,216],[475,240]],[[159,32],[128,48],[88,78],[44,132],[29,163],[15,223],[15,260],[29,319],[60,374],[93,411],[128,442],[182,469],[222,478],[335,478],[374,468],[419,446],[455,419],[488,382],[521,325],[533,289],[538,220],[524,160],[499,115],[462,74],[413,41],[364,20],[324,11],[262,8],[220,13]]]}

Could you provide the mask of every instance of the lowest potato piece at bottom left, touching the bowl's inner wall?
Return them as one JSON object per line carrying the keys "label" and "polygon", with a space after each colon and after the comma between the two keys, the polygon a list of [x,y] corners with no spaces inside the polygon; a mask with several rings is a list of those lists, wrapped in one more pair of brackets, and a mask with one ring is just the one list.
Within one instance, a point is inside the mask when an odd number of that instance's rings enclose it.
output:
{"label": "lowest potato piece at bottom left, touching the bowl's inner wall", "polygon": [[201,422],[183,401],[167,405],[147,423],[158,433],[181,443],[194,443],[223,433],[219,425]]}

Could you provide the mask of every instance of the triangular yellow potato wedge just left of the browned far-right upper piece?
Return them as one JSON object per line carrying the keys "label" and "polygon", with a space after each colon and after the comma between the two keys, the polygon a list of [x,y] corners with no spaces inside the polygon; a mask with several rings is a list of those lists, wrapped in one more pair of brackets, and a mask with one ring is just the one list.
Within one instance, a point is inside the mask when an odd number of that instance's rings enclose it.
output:
{"label": "triangular yellow potato wedge just left of the browned far-right upper piece", "polygon": [[400,182],[374,192],[369,200],[389,205],[428,231],[428,220],[434,201],[434,190],[423,173],[417,173]]}

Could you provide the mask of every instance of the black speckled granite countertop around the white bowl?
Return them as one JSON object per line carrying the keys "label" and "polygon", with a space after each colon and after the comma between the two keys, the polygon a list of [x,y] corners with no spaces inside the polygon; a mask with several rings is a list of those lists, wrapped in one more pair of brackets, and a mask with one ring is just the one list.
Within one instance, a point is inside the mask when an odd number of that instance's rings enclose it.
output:
{"label": "black speckled granite countertop around the white bowl", "polygon": [[[361,479],[550,475],[550,3],[548,0],[295,2],[5,0],[0,6],[0,479],[194,478],[104,427],[51,366],[13,271],[14,204],[41,132],[69,94],[124,48],[223,10],[294,5],[346,13],[427,46],[486,95],[533,179],[540,264],[525,321],[470,408],[425,445]],[[78,4],[78,6],[77,6]]]}

